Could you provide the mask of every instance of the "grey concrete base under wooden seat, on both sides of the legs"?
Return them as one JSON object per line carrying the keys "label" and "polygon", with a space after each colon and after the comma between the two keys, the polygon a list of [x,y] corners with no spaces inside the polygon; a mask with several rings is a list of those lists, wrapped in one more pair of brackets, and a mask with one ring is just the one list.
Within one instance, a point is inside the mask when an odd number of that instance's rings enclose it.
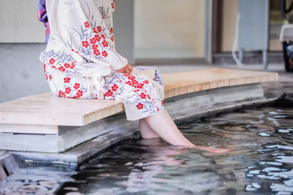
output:
{"label": "grey concrete base under wooden seat, on both sides of the legs", "polygon": [[[178,95],[166,99],[165,108],[171,117],[174,118],[194,113],[195,110],[199,108],[211,108],[218,103],[256,98],[263,98],[263,89],[259,84],[248,84]],[[138,121],[127,121],[125,114],[119,114],[82,127],[61,126],[59,135],[0,135],[0,149],[9,151],[62,153],[107,132],[133,125],[138,125]]]}

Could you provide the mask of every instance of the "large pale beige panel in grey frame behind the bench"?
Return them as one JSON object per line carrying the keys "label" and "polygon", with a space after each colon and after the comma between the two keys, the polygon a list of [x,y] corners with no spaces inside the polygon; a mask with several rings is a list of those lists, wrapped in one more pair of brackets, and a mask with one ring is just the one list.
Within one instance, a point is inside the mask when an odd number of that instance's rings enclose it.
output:
{"label": "large pale beige panel in grey frame behind the bench", "polygon": [[203,57],[205,0],[134,0],[138,58]]}

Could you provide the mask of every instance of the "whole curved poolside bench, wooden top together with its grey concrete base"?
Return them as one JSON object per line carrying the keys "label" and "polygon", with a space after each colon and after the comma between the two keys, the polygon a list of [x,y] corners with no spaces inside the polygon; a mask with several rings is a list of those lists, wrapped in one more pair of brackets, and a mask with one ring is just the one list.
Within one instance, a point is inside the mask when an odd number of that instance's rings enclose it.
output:
{"label": "whole curved poolside bench, wooden top together with its grey concrete base", "polygon": [[[265,101],[260,83],[277,78],[277,73],[225,69],[165,74],[165,108],[182,122],[246,101]],[[138,121],[127,121],[123,112],[120,101],[61,98],[52,93],[2,103],[0,150],[23,160],[74,165],[138,136]]]}

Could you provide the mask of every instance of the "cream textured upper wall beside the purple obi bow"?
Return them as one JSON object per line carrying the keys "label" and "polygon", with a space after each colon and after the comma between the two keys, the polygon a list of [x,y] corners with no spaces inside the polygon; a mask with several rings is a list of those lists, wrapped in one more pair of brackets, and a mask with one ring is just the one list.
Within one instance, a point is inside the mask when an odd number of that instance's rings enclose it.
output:
{"label": "cream textured upper wall beside the purple obi bow", "polygon": [[0,0],[0,43],[43,43],[37,0]]}

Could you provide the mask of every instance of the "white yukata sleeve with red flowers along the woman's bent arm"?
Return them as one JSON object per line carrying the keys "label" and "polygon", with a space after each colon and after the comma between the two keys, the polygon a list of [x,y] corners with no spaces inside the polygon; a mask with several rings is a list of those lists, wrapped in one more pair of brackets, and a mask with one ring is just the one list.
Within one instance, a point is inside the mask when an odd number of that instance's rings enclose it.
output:
{"label": "white yukata sleeve with red flowers along the woman's bent arm", "polygon": [[115,51],[108,24],[95,7],[93,1],[76,0],[70,5],[59,3],[51,14],[55,17],[54,23],[50,24],[51,31],[53,25],[56,27],[54,32],[58,36],[51,36],[55,40],[62,39],[71,52],[78,53],[88,62],[113,70],[123,68],[128,64],[127,59]]}

